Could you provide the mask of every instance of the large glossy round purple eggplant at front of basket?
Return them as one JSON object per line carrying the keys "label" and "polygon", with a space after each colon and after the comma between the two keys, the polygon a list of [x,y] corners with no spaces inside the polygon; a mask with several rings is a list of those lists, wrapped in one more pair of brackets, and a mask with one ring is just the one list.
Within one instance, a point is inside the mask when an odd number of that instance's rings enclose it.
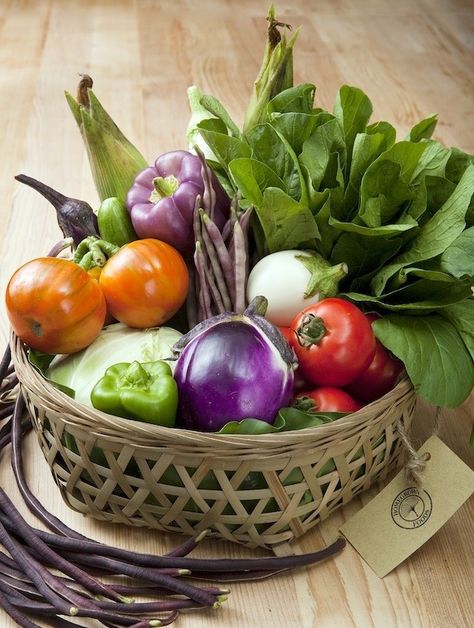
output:
{"label": "large glossy round purple eggplant at front of basket", "polygon": [[[291,401],[296,359],[256,297],[243,314],[203,321],[175,345],[178,424],[216,432],[247,418],[273,423]],[[257,312],[259,312],[257,314]]]}

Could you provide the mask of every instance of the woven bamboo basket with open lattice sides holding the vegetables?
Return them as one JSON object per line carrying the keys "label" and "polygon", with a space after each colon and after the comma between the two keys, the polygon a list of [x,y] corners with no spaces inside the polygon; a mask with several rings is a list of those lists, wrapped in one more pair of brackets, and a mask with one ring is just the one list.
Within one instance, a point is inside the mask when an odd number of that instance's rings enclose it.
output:
{"label": "woven bamboo basket with open lattice sides holding the vegetables", "polygon": [[262,435],[170,429],[111,416],[51,386],[12,335],[12,356],[43,454],[66,503],[96,519],[276,549],[400,463],[407,378],[333,423]]}

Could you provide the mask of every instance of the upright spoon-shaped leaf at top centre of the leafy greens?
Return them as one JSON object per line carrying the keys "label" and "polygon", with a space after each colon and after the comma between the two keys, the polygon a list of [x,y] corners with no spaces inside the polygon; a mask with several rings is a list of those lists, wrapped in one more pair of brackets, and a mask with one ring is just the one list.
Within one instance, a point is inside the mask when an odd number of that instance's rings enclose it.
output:
{"label": "upright spoon-shaped leaf at top centre of the leafy greens", "polygon": [[347,147],[347,167],[350,166],[352,147],[357,133],[364,133],[370,116],[372,103],[358,87],[343,85],[334,103],[334,115],[339,120]]}

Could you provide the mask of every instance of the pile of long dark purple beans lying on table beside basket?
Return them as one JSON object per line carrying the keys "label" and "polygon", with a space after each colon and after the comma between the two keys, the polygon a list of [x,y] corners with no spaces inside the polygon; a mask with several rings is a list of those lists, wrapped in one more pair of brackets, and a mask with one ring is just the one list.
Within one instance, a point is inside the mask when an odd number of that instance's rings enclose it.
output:
{"label": "pile of long dark purple beans lying on table beside basket", "polygon": [[[163,556],[99,543],[72,530],[48,512],[28,487],[23,466],[23,436],[31,429],[18,379],[7,348],[0,362],[0,452],[10,447],[13,473],[28,509],[49,530],[28,524],[0,487],[0,607],[19,626],[34,620],[77,626],[74,617],[103,626],[166,626],[182,610],[219,608],[228,588],[197,586],[193,580],[261,580],[310,565],[342,550],[343,538],[309,554],[255,559],[189,558],[205,532]],[[114,576],[117,584],[99,577]],[[118,577],[118,578],[117,578]],[[153,601],[136,601],[147,597]]]}

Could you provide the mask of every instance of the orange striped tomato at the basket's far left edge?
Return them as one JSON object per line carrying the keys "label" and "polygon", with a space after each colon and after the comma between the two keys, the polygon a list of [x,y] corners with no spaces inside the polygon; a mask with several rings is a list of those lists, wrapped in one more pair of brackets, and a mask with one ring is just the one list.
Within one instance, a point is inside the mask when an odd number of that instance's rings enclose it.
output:
{"label": "orange striped tomato at the basket's far left edge", "polygon": [[105,299],[97,281],[66,259],[27,262],[10,279],[5,299],[17,336],[45,353],[80,351],[104,324]]}

